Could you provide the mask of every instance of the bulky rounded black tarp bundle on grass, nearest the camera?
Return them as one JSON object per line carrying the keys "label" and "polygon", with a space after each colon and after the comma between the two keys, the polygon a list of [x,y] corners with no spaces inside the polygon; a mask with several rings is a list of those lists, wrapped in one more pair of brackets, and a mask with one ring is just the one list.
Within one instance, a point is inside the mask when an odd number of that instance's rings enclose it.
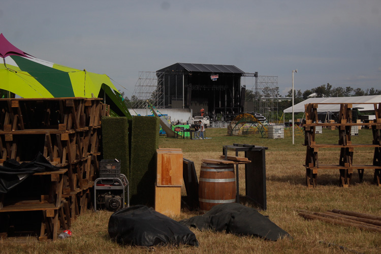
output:
{"label": "bulky rounded black tarp bundle on grass, nearest the camera", "polygon": [[122,245],[199,246],[195,234],[186,226],[144,205],[131,206],[113,213],[108,231],[111,239]]}

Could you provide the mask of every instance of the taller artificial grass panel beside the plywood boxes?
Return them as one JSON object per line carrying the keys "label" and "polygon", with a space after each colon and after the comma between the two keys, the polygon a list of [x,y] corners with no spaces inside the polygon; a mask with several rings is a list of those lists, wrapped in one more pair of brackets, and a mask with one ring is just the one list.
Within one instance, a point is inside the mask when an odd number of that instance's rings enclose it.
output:
{"label": "taller artificial grass panel beside the plywood boxes", "polygon": [[129,179],[132,204],[153,206],[159,124],[160,120],[155,116],[134,116],[132,119]]}

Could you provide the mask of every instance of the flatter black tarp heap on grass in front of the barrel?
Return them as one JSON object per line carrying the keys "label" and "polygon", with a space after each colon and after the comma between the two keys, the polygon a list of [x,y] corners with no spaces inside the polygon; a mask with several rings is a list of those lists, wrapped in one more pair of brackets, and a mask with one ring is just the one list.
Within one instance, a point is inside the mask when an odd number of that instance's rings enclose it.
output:
{"label": "flatter black tarp heap on grass in front of the barrel", "polygon": [[181,220],[185,226],[199,230],[225,231],[236,235],[251,235],[276,241],[289,233],[276,226],[256,209],[238,203],[213,206],[204,215]]}

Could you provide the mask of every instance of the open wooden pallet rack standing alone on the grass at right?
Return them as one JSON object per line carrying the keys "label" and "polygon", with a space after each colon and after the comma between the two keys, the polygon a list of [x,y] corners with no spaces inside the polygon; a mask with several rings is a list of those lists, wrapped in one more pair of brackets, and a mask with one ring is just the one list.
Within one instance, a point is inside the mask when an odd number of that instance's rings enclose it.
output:
{"label": "open wooden pallet rack standing alone on the grass at right", "polygon": [[[304,127],[304,145],[307,147],[306,160],[304,166],[306,167],[306,184],[308,187],[316,186],[317,173],[321,169],[339,170],[340,177],[339,183],[343,187],[350,186],[350,180],[352,178],[353,170],[358,170],[360,182],[363,180],[363,174],[365,169],[374,170],[374,182],[381,186],[381,103],[359,103],[373,104],[374,106],[374,122],[359,123],[353,122],[352,103],[331,103],[340,105],[338,122],[321,123],[317,117],[317,108],[319,104],[314,103],[305,105],[306,120],[303,123]],[[315,129],[317,126],[335,127],[339,131],[339,140],[336,144],[318,144],[315,141]],[[354,144],[351,141],[352,128],[358,128],[359,126],[368,126],[372,129],[373,140],[369,144]],[[319,161],[319,150],[325,148],[340,149],[339,164],[322,164]],[[373,160],[366,165],[353,164],[353,158],[355,156],[355,149],[358,148],[371,148],[374,149]]]}

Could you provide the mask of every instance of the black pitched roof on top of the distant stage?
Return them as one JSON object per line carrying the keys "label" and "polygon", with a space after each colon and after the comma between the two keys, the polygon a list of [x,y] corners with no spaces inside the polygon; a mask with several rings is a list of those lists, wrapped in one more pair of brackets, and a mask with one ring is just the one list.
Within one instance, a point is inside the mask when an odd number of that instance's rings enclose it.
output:
{"label": "black pitched roof on top of the distant stage", "polygon": [[188,72],[209,72],[209,73],[233,73],[243,74],[242,70],[234,65],[204,65],[203,63],[183,63],[177,62],[174,65],[168,66],[157,72],[168,71],[188,71]]}

